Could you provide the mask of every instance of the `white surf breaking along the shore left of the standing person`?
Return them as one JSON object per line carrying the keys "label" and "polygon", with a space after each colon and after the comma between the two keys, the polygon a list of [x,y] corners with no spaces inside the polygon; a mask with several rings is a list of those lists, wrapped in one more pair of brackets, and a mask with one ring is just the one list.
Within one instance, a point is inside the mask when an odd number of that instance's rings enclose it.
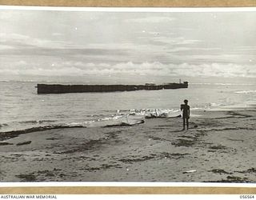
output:
{"label": "white surf breaking along the shore left of the standing person", "polygon": [[[97,118],[99,117],[100,118]],[[1,137],[9,134],[27,134],[36,131],[66,129],[74,127],[112,127],[135,126],[144,122],[144,118],[174,118],[180,117],[179,110],[141,109],[116,110],[115,114],[104,116],[95,114],[94,119],[84,122],[59,122],[57,120],[27,120],[23,122],[10,122],[1,124]],[[8,126],[8,127],[7,127]],[[15,127],[15,129],[14,129]],[[3,131],[5,130],[5,131]]]}

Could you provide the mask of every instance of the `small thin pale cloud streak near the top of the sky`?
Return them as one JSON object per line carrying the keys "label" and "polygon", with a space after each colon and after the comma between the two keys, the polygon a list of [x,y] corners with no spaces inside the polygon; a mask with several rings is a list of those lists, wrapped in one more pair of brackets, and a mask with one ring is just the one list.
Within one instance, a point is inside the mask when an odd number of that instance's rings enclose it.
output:
{"label": "small thin pale cloud streak near the top of the sky", "polygon": [[147,18],[130,18],[126,19],[125,22],[132,23],[167,23],[174,21],[175,18],[170,17],[147,17]]}

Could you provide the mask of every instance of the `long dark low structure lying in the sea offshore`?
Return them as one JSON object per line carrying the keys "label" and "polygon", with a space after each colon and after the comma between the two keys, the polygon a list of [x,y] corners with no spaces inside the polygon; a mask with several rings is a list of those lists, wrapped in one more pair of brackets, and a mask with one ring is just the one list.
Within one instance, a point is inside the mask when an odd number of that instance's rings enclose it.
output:
{"label": "long dark low structure lying in the sea offshore", "polygon": [[38,84],[38,94],[62,94],[84,92],[115,92],[134,90],[163,90],[187,88],[188,82],[167,83],[162,85],[61,85],[61,84]]}

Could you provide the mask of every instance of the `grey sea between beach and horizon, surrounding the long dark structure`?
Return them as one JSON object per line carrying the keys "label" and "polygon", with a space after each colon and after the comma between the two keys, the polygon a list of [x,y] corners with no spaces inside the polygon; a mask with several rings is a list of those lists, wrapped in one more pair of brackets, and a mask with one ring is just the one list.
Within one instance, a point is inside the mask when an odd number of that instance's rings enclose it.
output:
{"label": "grey sea between beach and horizon, surrounding the long dark structure", "polygon": [[0,82],[0,132],[42,126],[133,124],[175,117],[184,99],[193,110],[255,106],[254,84],[196,84],[178,90],[37,94],[37,82]]}

